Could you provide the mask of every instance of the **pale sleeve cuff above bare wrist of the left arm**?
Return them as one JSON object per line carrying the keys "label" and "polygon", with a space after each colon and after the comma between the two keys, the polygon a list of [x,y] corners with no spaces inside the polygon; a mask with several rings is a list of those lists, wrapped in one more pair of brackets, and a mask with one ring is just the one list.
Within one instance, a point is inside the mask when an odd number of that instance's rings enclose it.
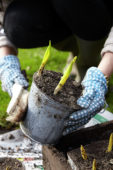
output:
{"label": "pale sleeve cuff above bare wrist of the left arm", "polygon": [[0,28],[0,47],[3,47],[3,46],[12,47],[17,53],[17,48],[15,47],[15,45],[11,43],[11,41],[7,38],[7,36],[4,33],[4,29]]}

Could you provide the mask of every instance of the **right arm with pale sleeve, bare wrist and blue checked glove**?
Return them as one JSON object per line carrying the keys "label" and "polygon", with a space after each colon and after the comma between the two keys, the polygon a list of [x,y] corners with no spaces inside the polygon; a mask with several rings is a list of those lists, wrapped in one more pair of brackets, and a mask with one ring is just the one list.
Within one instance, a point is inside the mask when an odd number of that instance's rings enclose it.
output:
{"label": "right arm with pale sleeve, bare wrist and blue checked glove", "polygon": [[87,70],[82,81],[83,95],[77,100],[81,110],[72,113],[65,122],[63,135],[69,134],[86,124],[105,104],[108,90],[107,79],[113,74],[113,27],[101,51],[102,59],[98,67]]}

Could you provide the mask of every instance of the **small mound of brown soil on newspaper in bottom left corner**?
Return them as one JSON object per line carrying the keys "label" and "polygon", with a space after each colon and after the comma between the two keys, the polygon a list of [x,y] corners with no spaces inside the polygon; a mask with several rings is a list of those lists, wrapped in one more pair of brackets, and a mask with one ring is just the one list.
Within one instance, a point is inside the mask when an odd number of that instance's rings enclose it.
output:
{"label": "small mound of brown soil on newspaper in bottom left corner", "polygon": [[0,170],[25,170],[25,168],[17,159],[0,158]]}

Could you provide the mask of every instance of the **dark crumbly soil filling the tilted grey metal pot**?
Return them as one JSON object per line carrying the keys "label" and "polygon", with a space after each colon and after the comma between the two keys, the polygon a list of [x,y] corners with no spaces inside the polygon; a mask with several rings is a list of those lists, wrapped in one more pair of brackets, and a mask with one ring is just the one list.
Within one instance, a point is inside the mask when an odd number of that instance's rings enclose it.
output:
{"label": "dark crumbly soil filling the tilted grey metal pot", "polygon": [[54,95],[62,74],[60,72],[44,70],[41,77],[34,75],[34,81],[39,89],[53,100],[68,105],[74,110],[80,109],[76,101],[82,93],[82,86],[76,83],[71,77],[68,78],[61,91]]}

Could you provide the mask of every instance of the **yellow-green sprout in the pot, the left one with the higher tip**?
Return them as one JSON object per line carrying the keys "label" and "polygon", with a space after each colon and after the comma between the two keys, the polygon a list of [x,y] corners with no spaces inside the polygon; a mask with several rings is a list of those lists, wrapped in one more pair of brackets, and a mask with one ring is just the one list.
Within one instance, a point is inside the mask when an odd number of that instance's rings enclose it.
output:
{"label": "yellow-green sprout in the pot, the left one with the higher tip", "polygon": [[41,66],[40,66],[40,68],[38,70],[37,74],[38,74],[39,77],[41,76],[42,71],[44,70],[44,67],[45,67],[45,65],[46,65],[46,63],[47,63],[47,61],[48,61],[48,59],[50,57],[50,52],[51,52],[51,41],[49,41],[49,46],[47,47],[47,50],[46,50],[46,52],[44,54]]}

